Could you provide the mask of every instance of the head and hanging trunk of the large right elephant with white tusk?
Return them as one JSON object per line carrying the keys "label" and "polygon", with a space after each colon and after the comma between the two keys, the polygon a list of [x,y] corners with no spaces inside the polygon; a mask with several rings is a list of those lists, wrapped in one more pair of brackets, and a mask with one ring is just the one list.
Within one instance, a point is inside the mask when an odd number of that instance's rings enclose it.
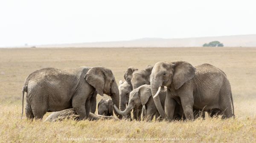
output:
{"label": "head and hanging trunk of the large right elephant with white tusk", "polygon": [[151,72],[150,83],[154,103],[160,115],[165,118],[166,114],[158,96],[161,88],[179,89],[186,81],[195,76],[196,68],[188,62],[157,62]]}

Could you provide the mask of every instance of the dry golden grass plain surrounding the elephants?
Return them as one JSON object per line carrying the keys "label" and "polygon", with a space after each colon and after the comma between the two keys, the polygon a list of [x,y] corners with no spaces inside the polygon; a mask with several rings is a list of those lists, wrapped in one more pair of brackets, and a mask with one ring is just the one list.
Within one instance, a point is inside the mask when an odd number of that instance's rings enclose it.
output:
{"label": "dry golden grass plain surrounding the elephants", "polygon": [[[195,121],[28,121],[21,116],[21,90],[30,73],[45,67],[102,66],[123,80],[159,61],[212,64],[227,74],[236,118]],[[98,95],[97,103],[101,96]],[[103,98],[109,98],[107,95]],[[97,112],[97,111],[96,111]],[[44,119],[50,113],[44,115]],[[157,140],[156,140],[157,139]],[[237,142],[256,143],[256,48],[9,48],[0,49],[0,142]]]}

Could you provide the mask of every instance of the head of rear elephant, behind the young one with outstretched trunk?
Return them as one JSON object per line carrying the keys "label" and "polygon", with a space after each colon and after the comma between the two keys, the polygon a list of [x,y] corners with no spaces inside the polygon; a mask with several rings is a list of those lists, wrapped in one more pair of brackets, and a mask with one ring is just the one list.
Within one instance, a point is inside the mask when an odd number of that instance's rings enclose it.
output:
{"label": "head of rear elephant, behind the young one with outstretched trunk", "polygon": [[134,71],[131,78],[131,84],[133,89],[138,88],[144,84],[148,84],[148,85],[150,84],[149,77],[150,77],[152,68],[153,66],[148,65],[145,68],[145,70]]}

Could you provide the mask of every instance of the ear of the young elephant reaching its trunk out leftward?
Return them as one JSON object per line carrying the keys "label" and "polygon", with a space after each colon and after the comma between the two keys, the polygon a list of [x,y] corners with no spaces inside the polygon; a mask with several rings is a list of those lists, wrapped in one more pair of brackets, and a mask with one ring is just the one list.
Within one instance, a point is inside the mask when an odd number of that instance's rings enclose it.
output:
{"label": "ear of the young elephant reaching its trunk out leftward", "polygon": [[152,96],[150,85],[141,86],[138,92],[141,104],[144,106],[148,102],[148,99]]}

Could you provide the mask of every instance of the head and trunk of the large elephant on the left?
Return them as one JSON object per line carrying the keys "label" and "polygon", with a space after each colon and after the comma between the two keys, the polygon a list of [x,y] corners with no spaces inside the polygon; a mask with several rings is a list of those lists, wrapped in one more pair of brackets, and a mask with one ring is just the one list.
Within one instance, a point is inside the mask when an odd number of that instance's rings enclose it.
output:
{"label": "head and trunk of the large elephant on the left", "polygon": [[[115,77],[110,69],[105,67],[92,67],[84,79],[93,86],[101,96],[107,94],[112,98],[113,104],[119,106],[119,90]],[[116,112],[116,116],[121,118]]]}

